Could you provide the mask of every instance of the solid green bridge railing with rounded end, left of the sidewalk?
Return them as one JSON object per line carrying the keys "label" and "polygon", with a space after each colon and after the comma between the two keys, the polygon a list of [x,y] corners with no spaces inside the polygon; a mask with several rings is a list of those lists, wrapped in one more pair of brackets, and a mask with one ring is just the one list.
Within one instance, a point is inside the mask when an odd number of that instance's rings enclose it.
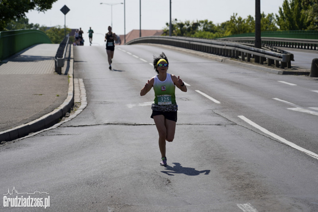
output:
{"label": "solid green bridge railing with rounded end, left of the sidewalk", "polygon": [[0,32],[0,60],[40,43],[52,43],[45,32],[34,29]]}

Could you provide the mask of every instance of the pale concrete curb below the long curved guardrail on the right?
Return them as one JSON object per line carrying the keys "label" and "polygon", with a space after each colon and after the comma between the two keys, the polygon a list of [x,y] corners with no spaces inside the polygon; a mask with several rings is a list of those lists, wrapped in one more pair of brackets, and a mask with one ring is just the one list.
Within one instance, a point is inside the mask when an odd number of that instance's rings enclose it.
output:
{"label": "pale concrete curb below the long curved guardrail on the right", "polygon": [[224,62],[224,63],[228,63],[228,64],[257,69],[260,71],[266,71],[266,72],[273,73],[273,74],[292,74],[292,75],[309,75],[310,74],[310,70],[307,70],[307,69],[304,69],[305,71],[288,71],[288,70],[284,70],[284,69],[279,70],[279,69],[274,69],[274,68],[265,67],[265,66],[261,66],[261,65],[254,65],[254,64],[247,63],[247,62],[243,62],[243,61],[229,59],[228,57],[222,57],[222,56],[213,55],[213,54],[204,53],[204,52],[199,52],[199,51],[195,51],[195,50],[191,50],[191,49],[185,49],[185,48],[181,48],[181,47],[175,47],[175,46],[169,46],[169,45],[163,45],[163,44],[143,43],[143,44],[134,44],[134,45],[164,46],[165,48],[174,49],[174,50],[177,50],[179,52],[188,53],[188,54],[192,54],[192,55],[199,56],[199,57],[204,57],[204,58],[211,59],[211,60],[217,60],[219,62]]}

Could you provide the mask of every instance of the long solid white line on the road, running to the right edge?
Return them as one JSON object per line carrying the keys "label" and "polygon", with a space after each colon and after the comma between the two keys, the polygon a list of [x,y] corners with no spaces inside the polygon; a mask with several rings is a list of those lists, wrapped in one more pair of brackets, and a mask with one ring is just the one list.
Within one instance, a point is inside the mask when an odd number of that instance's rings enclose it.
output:
{"label": "long solid white line on the road, running to the right edge", "polygon": [[311,152],[311,151],[309,151],[309,150],[307,150],[307,149],[304,149],[304,148],[302,148],[302,147],[300,147],[300,146],[298,146],[298,145],[295,145],[294,143],[292,143],[292,142],[290,142],[290,141],[287,141],[285,138],[281,138],[280,136],[278,136],[278,135],[276,135],[276,134],[274,134],[274,133],[272,133],[272,132],[266,130],[265,128],[259,126],[258,124],[252,122],[251,120],[249,120],[248,118],[246,118],[246,117],[244,117],[244,116],[238,116],[238,117],[241,118],[241,119],[242,119],[243,121],[245,121],[246,123],[248,123],[248,124],[252,125],[253,127],[259,129],[260,131],[266,133],[267,135],[270,135],[270,136],[272,136],[273,138],[278,139],[280,142],[282,142],[282,143],[284,143],[284,144],[286,144],[286,145],[288,145],[288,146],[291,146],[291,147],[293,147],[294,149],[297,149],[297,150],[299,150],[299,151],[301,151],[301,152],[305,152],[306,154],[308,154],[309,156],[311,156],[311,157],[313,157],[313,158],[315,158],[315,159],[318,159],[318,155],[317,155],[316,153]]}

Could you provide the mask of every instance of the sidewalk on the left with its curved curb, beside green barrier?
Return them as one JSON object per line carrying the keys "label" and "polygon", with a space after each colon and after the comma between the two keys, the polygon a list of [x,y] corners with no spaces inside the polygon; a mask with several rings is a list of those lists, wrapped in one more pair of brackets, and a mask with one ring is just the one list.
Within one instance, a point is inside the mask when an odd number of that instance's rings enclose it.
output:
{"label": "sidewalk on the left with its curved curb, beside green barrier", "polygon": [[0,142],[50,127],[73,106],[73,46],[61,75],[54,65],[58,47],[31,46],[0,63]]}

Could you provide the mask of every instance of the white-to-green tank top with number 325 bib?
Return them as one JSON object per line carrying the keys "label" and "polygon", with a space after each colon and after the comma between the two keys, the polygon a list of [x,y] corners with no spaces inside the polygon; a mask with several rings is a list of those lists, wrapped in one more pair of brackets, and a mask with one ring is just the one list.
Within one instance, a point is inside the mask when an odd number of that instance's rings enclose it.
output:
{"label": "white-to-green tank top with number 325 bib", "polygon": [[155,76],[154,81],[154,91],[155,99],[154,102],[157,105],[171,105],[176,104],[176,95],[175,95],[176,86],[171,79],[171,74],[167,73],[165,81],[160,81]]}

